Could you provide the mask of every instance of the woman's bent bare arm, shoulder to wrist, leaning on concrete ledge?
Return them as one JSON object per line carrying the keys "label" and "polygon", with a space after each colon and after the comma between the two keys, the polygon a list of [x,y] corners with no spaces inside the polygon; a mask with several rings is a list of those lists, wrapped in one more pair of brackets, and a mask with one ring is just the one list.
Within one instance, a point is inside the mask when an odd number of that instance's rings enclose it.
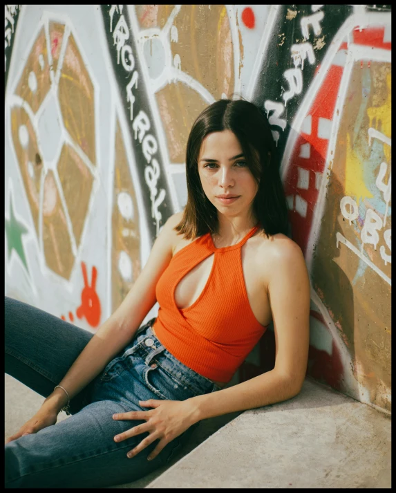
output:
{"label": "woman's bent bare arm, shoulder to wrist, leaning on concrete ledge", "polygon": [[266,259],[276,344],[274,369],[189,399],[195,404],[197,421],[281,402],[301,391],[308,364],[310,280],[299,245],[289,239],[280,243],[272,251],[273,258]]}

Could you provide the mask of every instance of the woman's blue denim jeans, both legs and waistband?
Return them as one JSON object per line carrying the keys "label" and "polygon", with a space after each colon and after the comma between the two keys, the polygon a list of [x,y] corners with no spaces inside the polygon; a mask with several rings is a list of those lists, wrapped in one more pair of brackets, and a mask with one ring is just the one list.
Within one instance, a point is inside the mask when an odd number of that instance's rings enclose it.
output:
{"label": "woman's blue denim jeans, both legs and waistband", "polygon": [[[114,436],[142,420],[113,420],[114,413],[144,409],[139,400],[185,400],[219,389],[176,360],[155,337],[152,319],[70,401],[66,420],[5,446],[6,487],[109,487],[135,481],[162,467],[187,443],[191,426],[152,461],[158,444],[127,458],[148,432],[115,443]],[[47,397],[93,337],[73,324],[5,297],[6,373]],[[144,410],[148,410],[147,408]],[[32,416],[37,409],[32,409]]]}

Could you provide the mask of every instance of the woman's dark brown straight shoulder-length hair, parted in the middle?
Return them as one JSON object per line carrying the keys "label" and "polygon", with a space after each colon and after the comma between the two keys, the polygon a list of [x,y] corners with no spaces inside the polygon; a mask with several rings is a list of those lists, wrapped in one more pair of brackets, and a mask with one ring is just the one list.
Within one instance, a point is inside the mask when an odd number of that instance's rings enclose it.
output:
{"label": "woman's dark brown straight shoulder-length hair, parted in the middle", "polygon": [[276,233],[287,235],[287,205],[270,125],[258,107],[245,100],[216,101],[194,122],[187,140],[187,205],[175,230],[186,239],[218,233],[217,209],[202,189],[198,156],[204,138],[223,130],[232,131],[238,138],[247,167],[258,185],[253,212],[261,230],[267,237]]}

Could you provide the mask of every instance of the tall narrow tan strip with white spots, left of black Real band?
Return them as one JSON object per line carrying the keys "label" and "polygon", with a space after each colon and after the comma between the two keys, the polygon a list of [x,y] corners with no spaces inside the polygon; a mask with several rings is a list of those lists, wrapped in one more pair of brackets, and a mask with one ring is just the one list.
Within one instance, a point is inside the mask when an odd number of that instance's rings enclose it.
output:
{"label": "tall narrow tan strip with white spots, left of black Real band", "polygon": [[[124,217],[120,211],[118,200],[122,193],[127,194],[132,201],[133,214],[131,214],[131,217]],[[112,209],[111,301],[113,313],[128,294],[141,270],[138,202],[136,201],[135,189],[118,120],[115,131]],[[119,261],[121,252],[124,252],[124,255],[126,254],[131,259],[132,278],[130,281],[124,279],[120,273]]]}

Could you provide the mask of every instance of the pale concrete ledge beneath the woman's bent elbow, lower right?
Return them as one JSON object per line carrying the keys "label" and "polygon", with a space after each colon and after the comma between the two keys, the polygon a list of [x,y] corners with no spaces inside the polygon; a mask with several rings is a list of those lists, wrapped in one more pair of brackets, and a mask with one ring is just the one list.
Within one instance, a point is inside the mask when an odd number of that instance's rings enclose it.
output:
{"label": "pale concrete ledge beneath the woman's bent elbow, lower right", "polygon": [[241,413],[146,487],[390,488],[390,416],[306,379]]}

